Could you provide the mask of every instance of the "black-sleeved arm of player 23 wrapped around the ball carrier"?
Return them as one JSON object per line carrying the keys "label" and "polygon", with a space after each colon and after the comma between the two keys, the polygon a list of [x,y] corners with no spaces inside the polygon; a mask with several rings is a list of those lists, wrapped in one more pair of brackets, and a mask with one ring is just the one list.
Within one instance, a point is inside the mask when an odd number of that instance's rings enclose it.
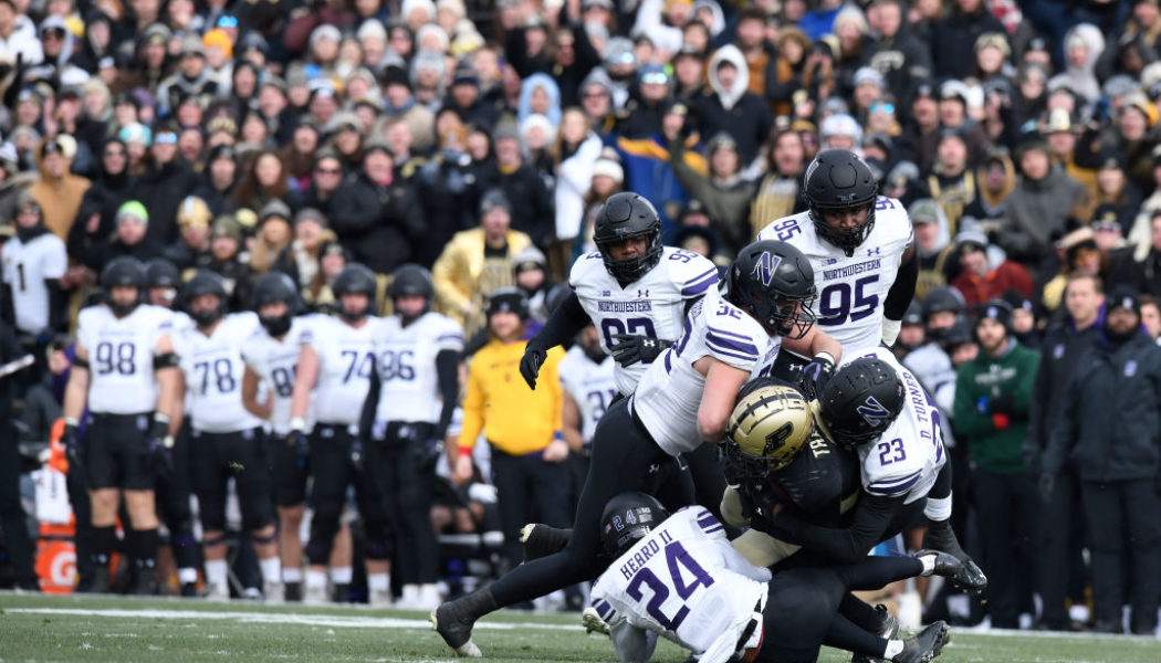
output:
{"label": "black-sleeved arm of player 23 wrapped around the ball carrier", "polygon": [[791,533],[803,548],[849,564],[865,557],[871,548],[882,541],[902,504],[901,497],[882,498],[864,493],[845,528],[810,525],[785,511],[774,517],[774,525]]}

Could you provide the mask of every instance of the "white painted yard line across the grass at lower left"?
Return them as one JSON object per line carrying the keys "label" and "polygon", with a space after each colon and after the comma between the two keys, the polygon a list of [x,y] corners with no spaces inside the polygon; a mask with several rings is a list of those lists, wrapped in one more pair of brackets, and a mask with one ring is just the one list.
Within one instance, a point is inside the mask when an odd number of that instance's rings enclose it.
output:
{"label": "white painted yard line across the grass at lower left", "polygon": [[[430,629],[426,619],[402,619],[390,617],[355,617],[338,614],[298,614],[271,612],[212,612],[201,610],[124,610],[124,608],[75,608],[75,607],[7,607],[8,614],[55,614],[75,617],[110,617],[132,619],[178,620],[232,620],[241,624],[297,624],[304,626],[331,626],[348,628],[418,628]],[[493,630],[553,629],[580,630],[580,625],[556,625],[535,622],[481,621],[476,628]]]}

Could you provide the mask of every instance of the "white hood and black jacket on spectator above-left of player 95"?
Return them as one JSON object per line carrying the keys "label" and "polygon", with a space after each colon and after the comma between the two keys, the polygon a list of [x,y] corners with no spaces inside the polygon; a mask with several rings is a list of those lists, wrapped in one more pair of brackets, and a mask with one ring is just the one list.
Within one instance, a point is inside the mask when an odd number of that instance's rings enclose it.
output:
{"label": "white hood and black jacket on spectator above-left of player 95", "polygon": [[[737,69],[737,78],[729,89],[723,88],[717,79],[717,66],[723,62]],[[773,125],[770,108],[760,96],[747,92],[750,72],[745,56],[737,46],[728,44],[717,49],[709,58],[708,77],[711,89],[694,102],[701,117],[701,135],[729,134],[737,142],[744,170],[770,136]]]}

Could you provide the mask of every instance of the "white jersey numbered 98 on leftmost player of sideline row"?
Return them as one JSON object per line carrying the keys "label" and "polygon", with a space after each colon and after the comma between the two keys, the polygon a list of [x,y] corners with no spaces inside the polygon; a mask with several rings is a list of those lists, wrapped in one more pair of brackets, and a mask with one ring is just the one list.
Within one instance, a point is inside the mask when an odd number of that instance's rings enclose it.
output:
{"label": "white jersey numbered 98 on leftmost player of sideline row", "polygon": [[170,311],[160,307],[142,304],[123,318],[104,304],[80,311],[77,338],[88,351],[89,412],[138,415],[157,408],[153,353],[171,329]]}

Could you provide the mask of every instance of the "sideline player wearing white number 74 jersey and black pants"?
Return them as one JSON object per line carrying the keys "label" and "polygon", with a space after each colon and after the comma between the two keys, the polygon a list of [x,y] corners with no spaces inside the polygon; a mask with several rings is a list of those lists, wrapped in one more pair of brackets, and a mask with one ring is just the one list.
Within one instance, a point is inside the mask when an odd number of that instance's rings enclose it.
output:
{"label": "sideline player wearing white number 74 jersey and black pants", "polygon": [[[388,518],[383,497],[370,468],[376,460],[368,457],[377,449],[365,446],[359,434],[361,405],[367,401],[375,372],[376,340],[382,332],[381,318],[372,315],[377,289],[375,274],[363,265],[347,265],[334,279],[336,317],[315,320],[310,339],[298,354],[298,374],[290,405],[290,439],[295,448],[310,449],[310,469],[315,475],[311,498],[315,514],[307,542],[307,583],[303,603],[326,601],[326,563],[331,555],[339,517],[346,504],[347,487],[354,484],[359,514],[367,531],[367,585],[370,604],[391,603],[388,564]],[[307,413],[311,391],[315,392],[315,428],[307,435]],[[332,574],[337,585],[351,583],[349,577]]]}

